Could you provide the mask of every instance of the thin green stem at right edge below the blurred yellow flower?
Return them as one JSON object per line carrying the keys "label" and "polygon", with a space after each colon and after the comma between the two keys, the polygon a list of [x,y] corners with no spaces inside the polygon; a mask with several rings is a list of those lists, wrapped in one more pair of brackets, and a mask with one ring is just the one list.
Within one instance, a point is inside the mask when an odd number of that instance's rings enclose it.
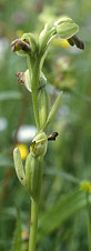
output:
{"label": "thin green stem at right edge below the blurred yellow flower", "polygon": [[89,194],[87,193],[87,211],[88,211],[88,241],[89,241],[89,251],[91,251],[91,213],[89,204]]}

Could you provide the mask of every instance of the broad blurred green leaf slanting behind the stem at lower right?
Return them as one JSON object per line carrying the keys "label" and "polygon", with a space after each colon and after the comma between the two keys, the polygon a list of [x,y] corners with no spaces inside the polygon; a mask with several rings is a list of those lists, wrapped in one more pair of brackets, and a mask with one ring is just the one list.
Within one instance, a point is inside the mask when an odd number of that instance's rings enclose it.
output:
{"label": "broad blurred green leaf slanting behind the stem at lower right", "polygon": [[[89,202],[91,203],[91,194],[89,195]],[[40,217],[38,241],[84,207],[87,207],[85,193],[78,189],[71,194],[61,198],[57,204]]]}

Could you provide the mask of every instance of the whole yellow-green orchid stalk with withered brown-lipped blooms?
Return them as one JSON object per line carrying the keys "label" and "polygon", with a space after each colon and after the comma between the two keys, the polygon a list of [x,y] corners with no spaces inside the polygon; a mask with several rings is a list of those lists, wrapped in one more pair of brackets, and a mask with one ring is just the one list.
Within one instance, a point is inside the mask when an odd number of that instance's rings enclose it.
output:
{"label": "whole yellow-green orchid stalk with withered brown-lipped blooms", "polygon": [[[57,97],[53,107],[49,107],[49,93],[47,91],[47,78],[42,72],[48,48],[54,37],[67,39],[71,46],[75,44],[83,49],[80,39],[75,33],[79,27],[70,18],[61,18],[52,24],[46,23],[44,29],[37,39],[32,33],[24,33],[20,39],[12,41],[12,51],[24,56],[28,63],[26,72],[18,72],[19,82],[23,83],[32,96],[33,112],[38,132],[30,145],[30,152],[23,167],[19,149],[14,149],[13,159],[19,181],[27,189],[31,197],[31,222],[29,234],[29,251],[36,251],[38,211],[40,189],[43,173],[43,158],[47,153],[48,140],[55,140],[58,132],[46,134],[50,124],[60,108],[62,92]],[[49,112],[50,110],[50,112]]]}

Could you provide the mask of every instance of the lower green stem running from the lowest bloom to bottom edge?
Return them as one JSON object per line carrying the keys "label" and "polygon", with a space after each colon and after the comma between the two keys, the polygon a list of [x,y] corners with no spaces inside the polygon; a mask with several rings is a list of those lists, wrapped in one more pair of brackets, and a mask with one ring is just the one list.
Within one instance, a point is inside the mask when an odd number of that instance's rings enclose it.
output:
{"label": "lower green stem running from the lowest bloom to bottom edge", "polygon": [[39,199],[40,189],[43,172],[43,158],[39,158],[39,173],[38,173],[38,191],[36,198],[31,200],[31,223],[30,223],[30,235],[29,235],[29,251],[36,251],[37,241],[37,229],[38,229],[38,211],[39,211]]}

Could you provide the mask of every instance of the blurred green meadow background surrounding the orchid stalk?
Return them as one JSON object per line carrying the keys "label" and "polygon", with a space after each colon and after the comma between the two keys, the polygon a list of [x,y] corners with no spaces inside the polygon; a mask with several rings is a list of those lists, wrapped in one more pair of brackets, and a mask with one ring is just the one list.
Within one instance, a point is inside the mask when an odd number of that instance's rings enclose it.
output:
{"label": "blurred green meadow background surrounding the orchid stalk", "polygon": [[17,143],[29,150],[36,133],[31,94],[14,76],[26,71],[26,59],[11,52],[10,43],[22,32],[39,34],[46,22],[60,16],[69,16],[79,24],[78,36],[85,50],[53,40],[43,66],[52,103],[59,90],[63,90],[63,100],[48,130],[48,134],[58,131],[59,137],[49,142],[44,158],[37,250],[91,251],[87,197],[79,190],[81,180],[91,181],[91,1],[0,0],[1,251],[12,249],[18,211],[21,250],[28,250],[30,198],[16,175],[12,150]]}

